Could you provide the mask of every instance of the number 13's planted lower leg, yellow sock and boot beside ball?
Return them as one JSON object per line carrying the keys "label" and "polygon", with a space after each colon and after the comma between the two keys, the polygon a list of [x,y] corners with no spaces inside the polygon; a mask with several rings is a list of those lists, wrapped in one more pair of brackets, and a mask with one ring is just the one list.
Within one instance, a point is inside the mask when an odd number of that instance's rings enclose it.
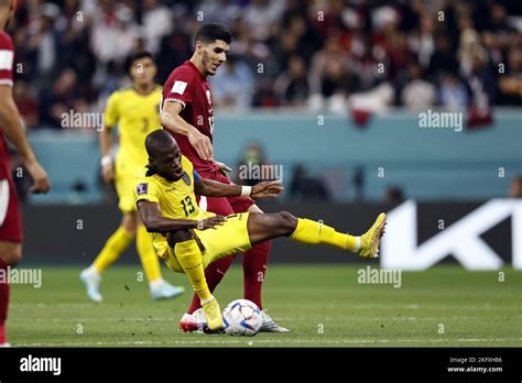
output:
{"label": "number 13's planted lower leg, yellow sock and boot beside ball", "polygon": [[202,302],[209,330],[222,328],[222,315],[219,304],[208,288],[203,267],[203,256],[196,240],[188,230],[177,230],[167,236],[168,251],[174,249],[175,256],[185,272],[191,285]]}

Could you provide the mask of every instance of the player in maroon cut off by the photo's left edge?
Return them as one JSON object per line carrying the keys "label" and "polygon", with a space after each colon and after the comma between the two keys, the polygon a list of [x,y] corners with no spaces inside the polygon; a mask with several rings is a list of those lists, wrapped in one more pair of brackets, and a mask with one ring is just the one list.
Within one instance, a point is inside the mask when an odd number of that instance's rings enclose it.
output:
{"label": "player in maroon cut off by the photo's left edge", "polygon": [[0,0],[0,347],[9,346],[6,319],[9,305],[9,267],[22,256],[22,221],[17,190],[11,176],[11,162],[3,135],[17,146],[33,177],[33,193],[46,193],[51,185],[45,171],[25,139],[22,119],[12,97],[14,46],[3,31],[14,13],[15,0]]}

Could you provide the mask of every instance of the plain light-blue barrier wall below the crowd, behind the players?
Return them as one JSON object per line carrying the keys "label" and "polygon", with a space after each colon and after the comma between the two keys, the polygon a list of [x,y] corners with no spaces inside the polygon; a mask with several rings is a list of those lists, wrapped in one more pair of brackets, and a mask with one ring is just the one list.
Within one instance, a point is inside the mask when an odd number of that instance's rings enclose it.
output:
{"label": "plain light-blue barrier wall below the crowd, behind the players", "polygon": [[[217,160],[237,167],[246,146],[258,142],[272,164],[283,165],[285,186],[293,167],[303,164],[338,200],[355,198],[358,167],[370,200],[382,199],[389,186],[424,200],[503,197],[511,178],[522,174],[522,123],[515,109],[496,110],[490,127],[460,132],[420,128],[417,114],[400,110],[373,117],[366,128],[348,116],[218,113],[215,135]],[[96,134],[34,131],[30,140],[54,185],[50,195],[33,201],[101,200]],[[85,193],[72,192],[78,182]]]}

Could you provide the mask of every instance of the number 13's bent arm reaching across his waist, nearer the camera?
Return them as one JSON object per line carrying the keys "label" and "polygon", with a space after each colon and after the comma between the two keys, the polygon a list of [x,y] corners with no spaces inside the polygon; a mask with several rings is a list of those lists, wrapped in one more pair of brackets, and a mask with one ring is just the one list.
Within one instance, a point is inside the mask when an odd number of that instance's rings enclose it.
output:
{"label": "number 13's bent arm reaching across his waist, nearer the camera", "polygon": [[171,219],[164,218],[160,214],[160,204],[141,199],[138,201],[138,210],[140,210],[141,220],[149,232],[167,233],[175,230],[187,229],[210,229],[217,225],[222,225],[227,219],[222,216],[213,216],[199,221],[189,219]]}

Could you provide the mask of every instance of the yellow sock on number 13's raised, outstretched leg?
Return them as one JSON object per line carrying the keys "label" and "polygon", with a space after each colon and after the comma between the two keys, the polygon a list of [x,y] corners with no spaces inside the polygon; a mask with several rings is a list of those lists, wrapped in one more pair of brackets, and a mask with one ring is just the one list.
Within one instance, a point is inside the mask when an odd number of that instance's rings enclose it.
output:
{"label": "yellow sock on number 13's raised, outstretched leg", "polygon": [[297,228],[290,239],[306,244],[330,244],[333,247],[355,251],[359,247],[358,237],[352,237],[320,222],[305,218],[297,219]]}

